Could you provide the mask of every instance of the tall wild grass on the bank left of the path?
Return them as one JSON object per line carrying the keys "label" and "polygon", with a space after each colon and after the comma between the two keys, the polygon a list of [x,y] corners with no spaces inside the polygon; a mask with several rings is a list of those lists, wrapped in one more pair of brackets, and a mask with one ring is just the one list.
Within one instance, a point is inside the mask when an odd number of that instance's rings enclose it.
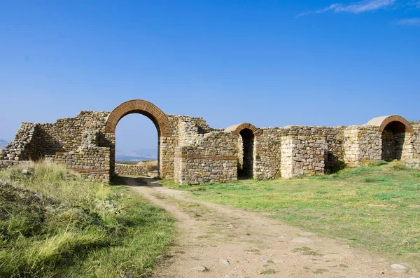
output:
{"label": "tall wild grass on the bank left of the path", "polygon": [[174,220],[122,179],[22,169],[0,172],[0,277],[144,277],[172,242]]}

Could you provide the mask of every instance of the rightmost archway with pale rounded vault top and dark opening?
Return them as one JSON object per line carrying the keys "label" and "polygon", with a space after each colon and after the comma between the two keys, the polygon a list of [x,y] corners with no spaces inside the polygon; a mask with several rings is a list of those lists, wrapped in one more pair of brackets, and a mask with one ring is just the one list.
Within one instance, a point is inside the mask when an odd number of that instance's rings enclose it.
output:
{"label": "rightmost archway with pale rounded vault top and dark opening", "polygon": [[398,115],[377,117],[367,125],[376,125],[381,131],[382,160],[392,161],[403,158],[406,132],[413,132],[409,122]]}

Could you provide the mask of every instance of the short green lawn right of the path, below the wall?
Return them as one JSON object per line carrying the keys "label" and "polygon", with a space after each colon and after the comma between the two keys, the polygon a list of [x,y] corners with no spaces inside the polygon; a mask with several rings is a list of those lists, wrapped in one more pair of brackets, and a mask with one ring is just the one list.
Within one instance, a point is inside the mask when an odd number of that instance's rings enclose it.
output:
{"label": "short green lawn right of the path, below the wall", "polygon": [[[420,172],[400,162],[347,168],[330,175],[235,181],[192,191],[201,200],[269,214],[320,235],[394,255],[420,254]],[[408,255],[407,255],[408,256]],[[406,257],[407,258],[407,257]]]}

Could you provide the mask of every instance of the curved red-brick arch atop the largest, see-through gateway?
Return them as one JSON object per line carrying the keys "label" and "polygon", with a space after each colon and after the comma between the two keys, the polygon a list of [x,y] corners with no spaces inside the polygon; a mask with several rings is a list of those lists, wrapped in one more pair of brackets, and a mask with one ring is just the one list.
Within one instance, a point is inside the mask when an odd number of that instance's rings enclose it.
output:
{"label": "curved red-brick arch atop the largest, see-through gateway", "polygon": [[132,99],[127,102],[123,102],[118,105],[116,109],[109,114],[106,119],[106,132],[115,133],[118,122],[128,114],[131,113],[140,113],[152,120],[158,129],[159,136],[171,137],[172,130],[171,125],[169,125],[169,120],[165,113],[162,112],[151,102],[147,102],[143,99]]}

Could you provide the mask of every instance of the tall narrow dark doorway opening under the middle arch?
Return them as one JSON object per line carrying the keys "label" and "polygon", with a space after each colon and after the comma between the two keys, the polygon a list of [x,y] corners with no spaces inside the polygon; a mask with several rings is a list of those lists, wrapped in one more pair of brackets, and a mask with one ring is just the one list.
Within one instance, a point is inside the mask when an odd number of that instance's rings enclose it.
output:
{"label": "tall narrow dark doorway opening under the middle arch", "polygon": [[239,132],[238,177],[241,179],[252,179],[253,177],[254,139],[253,131],[248,128]]}

